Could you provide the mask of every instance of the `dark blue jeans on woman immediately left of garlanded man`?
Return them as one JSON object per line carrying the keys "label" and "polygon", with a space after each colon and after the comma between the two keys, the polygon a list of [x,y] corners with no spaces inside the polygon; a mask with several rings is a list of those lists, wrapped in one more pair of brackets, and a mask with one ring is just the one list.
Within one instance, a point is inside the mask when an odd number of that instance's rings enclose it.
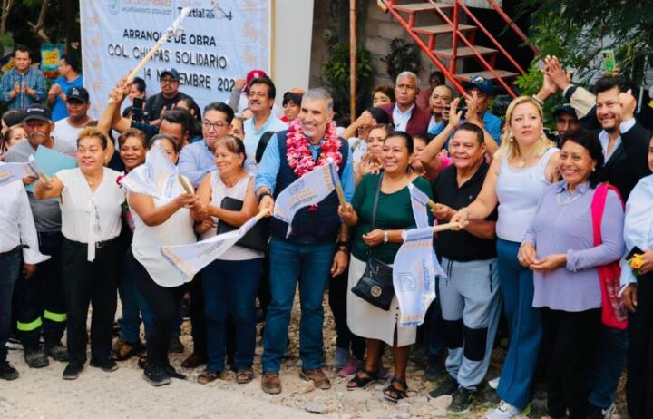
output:
{"label": "dark blue jeans on woman immediately left of garlanded man", "polygon": [[256,296],[263,258],[214,260],[202,271],[206,315],[207,368],[222,371],[227,341],[227,318],[236,331],[236,368],[249,368],[256,346]]}

